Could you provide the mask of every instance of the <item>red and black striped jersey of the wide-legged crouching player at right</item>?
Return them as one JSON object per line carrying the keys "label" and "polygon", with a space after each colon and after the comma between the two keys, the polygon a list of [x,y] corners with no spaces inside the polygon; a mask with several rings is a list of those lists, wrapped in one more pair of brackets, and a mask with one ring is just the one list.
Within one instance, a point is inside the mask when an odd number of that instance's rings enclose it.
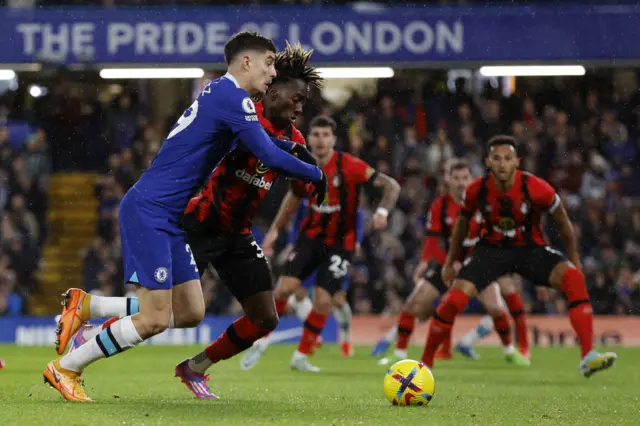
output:
{"label": "red and black striped jersey of the wide-legged crouching player at right", "polygon": [[481,242],[502,247],[545,246],[542,215],[553,213],[559,205],[560,197],[544,179],[517,170],[507,192],[496,187],[491,173],[474,180],[465,192],[462,212],[468,217],[482,214]]}

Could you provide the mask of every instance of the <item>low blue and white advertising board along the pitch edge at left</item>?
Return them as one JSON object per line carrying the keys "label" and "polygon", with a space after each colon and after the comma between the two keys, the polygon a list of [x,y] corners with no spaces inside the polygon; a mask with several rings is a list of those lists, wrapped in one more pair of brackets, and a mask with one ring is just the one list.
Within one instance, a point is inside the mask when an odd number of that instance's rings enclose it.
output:
{"label": "low blue and white advertising board along the pitch edge at left", "polygon": [[[152,345],[208,345],[213,342],[237,317],[207,316],[195,328],[171,329],[152,337],[145,344]],[[92,321],[100,324],[100,321]],[[51,346],[56,339],[53,317],[0,317],[0,344],[20,346]],[[296,318],[284,317],[271,334],[279,342],[297,342],[302,324]],[[322,333],[325,342],[337,341],[337,328],[333,316],[327,320]]]}

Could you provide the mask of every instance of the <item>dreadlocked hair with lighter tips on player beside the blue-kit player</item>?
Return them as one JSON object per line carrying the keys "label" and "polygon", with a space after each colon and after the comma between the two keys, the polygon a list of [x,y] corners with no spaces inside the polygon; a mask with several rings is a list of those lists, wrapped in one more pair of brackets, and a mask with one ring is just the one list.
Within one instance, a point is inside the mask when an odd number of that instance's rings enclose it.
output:
{"label": "dreadlocked hair with lighter tips on player beside the blue-kit player", "polygon": [[304,50],[299,42],[293,46],[287,42],[287,47],[276,54],[275,67],[278,75],[271,84],[302,80],[307,86],[321,88],[324,79],[320,77],[317,69],[307,65],[312,54],[313,50]]}

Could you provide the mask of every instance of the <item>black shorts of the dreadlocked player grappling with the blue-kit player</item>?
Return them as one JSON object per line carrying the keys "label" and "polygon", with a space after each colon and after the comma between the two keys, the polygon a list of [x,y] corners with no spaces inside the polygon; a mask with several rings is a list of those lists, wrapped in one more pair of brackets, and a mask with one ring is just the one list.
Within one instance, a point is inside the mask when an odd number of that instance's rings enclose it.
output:
{"label": "black shorts of the dreadlocked player grappling with the blue-kit player", "polygon": [[215,231],[192,215],[186,215],[183,223],[200,276],[209,265],[213,266],[240,302],[254,294],[273,290],[269,263],[253,235]]}

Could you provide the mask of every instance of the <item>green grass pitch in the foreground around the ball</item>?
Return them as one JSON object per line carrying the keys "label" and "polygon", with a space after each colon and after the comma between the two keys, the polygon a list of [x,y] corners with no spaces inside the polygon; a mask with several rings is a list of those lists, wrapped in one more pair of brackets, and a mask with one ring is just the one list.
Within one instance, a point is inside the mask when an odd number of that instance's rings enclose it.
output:
{"label": "green grass pitch in the foreground around the ball", "polygon": [[[312,358],[322,373],[289,369],[291,346],[274,346],[252,371],[239,359],[212,369],[219,401],[195,400],[173,367],[197,347],[145,346],[102,360],[85,373],[95,404],[69,403],[44,386],[47,348],[0,345],[0,425],[622,425],[638,424],[640,350],[620,349],[618,364],[591,379],[578,374],[576,349],[540,349],[533,365],[507,365],[498,349],[457,357],[434,369],[427,407],[392,407],[385,368],[369,348],[343,360],[335,346]],[[418,357],[419,348],[410,355]]]}

